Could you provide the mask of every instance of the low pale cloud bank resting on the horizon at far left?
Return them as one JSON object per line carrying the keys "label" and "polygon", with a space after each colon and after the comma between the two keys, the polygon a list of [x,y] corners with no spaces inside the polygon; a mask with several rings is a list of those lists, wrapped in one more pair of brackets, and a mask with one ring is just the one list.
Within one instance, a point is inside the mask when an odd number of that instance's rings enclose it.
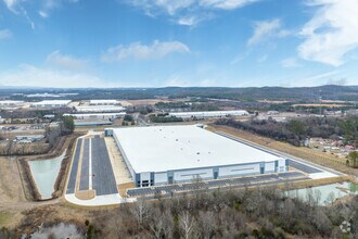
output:
{"label": "low pale cloud bank resting on the horizon at far left", "polygon": [[101,78],[84,73],[54,71],[23,64],[16,68],[0,73],[3,86],[29,87],[107,87]]}

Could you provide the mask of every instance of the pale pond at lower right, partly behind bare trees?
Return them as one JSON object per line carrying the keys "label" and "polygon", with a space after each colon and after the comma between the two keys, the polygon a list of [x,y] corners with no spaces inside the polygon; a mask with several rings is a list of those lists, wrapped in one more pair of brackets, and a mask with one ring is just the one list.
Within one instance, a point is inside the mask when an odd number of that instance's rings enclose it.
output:
{"label": "pale pond at lower right, partly behind bare trees", "polygon": [[299,198],[304,201],[308,201],[309,197],[317,199],[318,204],[327,205],[336,199],[343,198],[348,194],[358,194],[358,185],[349,181],[343,184],[331,184],[311,188],[303,188],[298,190],[287,191],[287,194],[292,198]]}

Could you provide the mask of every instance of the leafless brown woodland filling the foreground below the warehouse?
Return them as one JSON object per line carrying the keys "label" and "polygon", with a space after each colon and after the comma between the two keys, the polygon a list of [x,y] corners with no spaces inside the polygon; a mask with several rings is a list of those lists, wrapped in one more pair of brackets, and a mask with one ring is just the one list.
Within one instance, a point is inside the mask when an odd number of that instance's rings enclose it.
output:
{"label": "leafless brown woodland filling the foreground below the warehouse", "polygon": [[[350,234],[346,238],[357,238],[357,198],[336,203],[333,197],[328,197],[328,206],[318,205],[320,198],[319,191],[311,189],[308,189],[306,202],[286,197],[276,187],[228,191],[218,189],[157,201],[139,199],[135,204],[93,210],[91,216],[82,221],[68,222],[87,230],[87,238],[264,239],[292,236],[345,238],[347,235],[342,232],[340,225],[347,221],[350,223]],[[53,222],[59,222],[60,215],[53,209],[47,212],[47,207],[39,210],[40,214],[36,209],[30,210],[20,229],[33,225],[34,218],[40,218],[41,215],[51,215]]]}

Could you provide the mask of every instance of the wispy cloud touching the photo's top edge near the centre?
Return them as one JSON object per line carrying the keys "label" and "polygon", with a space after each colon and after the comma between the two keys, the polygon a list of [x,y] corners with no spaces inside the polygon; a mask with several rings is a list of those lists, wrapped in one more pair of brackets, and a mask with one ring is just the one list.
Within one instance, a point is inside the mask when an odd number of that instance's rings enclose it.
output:
{"label": "wispy cloud touching the photo's top edge near the centre", "polygon": [[127,0],[150,16],[168,15],[170,21],[186,26],[213,18],[218,10],[234,10],[259,0]]}

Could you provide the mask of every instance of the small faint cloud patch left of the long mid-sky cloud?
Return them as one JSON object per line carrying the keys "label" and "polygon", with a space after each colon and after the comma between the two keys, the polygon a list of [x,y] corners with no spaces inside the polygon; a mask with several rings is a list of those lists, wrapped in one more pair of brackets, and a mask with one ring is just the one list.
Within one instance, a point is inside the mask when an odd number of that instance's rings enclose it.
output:
{"label": "small faint cloud patch left of the long mid-sky cloud", "polygon": [[53,51],[47,56],[46,62],[65,70],[79,71],[87,67],[88,60],[61,54],[60,51]]}

